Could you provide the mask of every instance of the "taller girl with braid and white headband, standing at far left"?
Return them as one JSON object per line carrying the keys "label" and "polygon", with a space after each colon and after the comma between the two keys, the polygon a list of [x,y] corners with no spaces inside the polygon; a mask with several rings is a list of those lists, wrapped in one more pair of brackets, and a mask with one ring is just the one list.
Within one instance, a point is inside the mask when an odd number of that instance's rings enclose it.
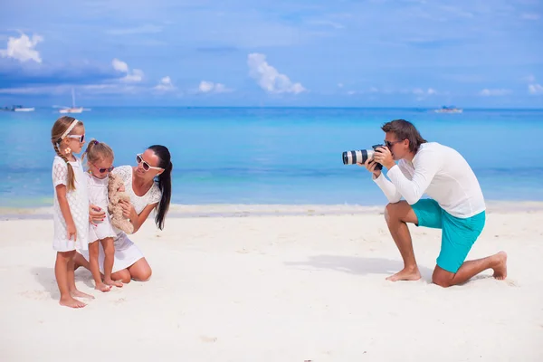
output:
{"label": "taller girl with braid and white headband, standing at far left", "polygon": [[86,304],[73,297],[94,298],[78,291],[73,275],[75,250],[86,250],[89,237],[89,197],[87,176],[81,160],[74,154],[85,143],[83,122],[72,117],[57,119],[51,130],[53,225],[52,248],[57,252],[54,274],[61,292],[60,304],[81,308]]}

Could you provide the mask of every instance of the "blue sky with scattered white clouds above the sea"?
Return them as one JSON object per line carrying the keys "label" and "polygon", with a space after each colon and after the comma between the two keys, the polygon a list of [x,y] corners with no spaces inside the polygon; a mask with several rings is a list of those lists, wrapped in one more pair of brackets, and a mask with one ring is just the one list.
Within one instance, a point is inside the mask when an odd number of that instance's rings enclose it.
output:
{"label": "blue sky with scattered white clouds above the sea", "polygon": [[0,105],[543,108],[543,1],[18,0]]}

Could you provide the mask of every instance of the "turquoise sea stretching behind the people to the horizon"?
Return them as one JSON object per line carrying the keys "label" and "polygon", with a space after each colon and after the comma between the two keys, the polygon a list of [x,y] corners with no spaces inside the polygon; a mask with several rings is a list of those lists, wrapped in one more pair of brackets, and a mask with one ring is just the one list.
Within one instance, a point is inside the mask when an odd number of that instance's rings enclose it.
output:
{"label": "turquoise sea stretching behind the people to the horizon", "polygon": [[[0,206],[52,205],[51,108],[0,112]],[[362,167],[341,153],[382,143],[380,126],[407,119],[458,149],[488,200],[543,201],[543,110],[92,108],[75,115],[115,165],[153,144],[173,156],[176,204],[384,205]]]}

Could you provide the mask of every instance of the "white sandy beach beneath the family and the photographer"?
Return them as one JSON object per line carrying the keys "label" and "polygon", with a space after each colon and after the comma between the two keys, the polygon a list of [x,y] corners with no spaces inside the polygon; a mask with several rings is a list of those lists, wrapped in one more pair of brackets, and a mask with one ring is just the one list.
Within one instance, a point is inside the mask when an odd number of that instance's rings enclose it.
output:
{"label": "white sandy beach beneath the family and the photographer", "polygon": [[[52,220],[3,210],[0,360],[11,361],[540,361],[543,206],[499,203],[468,259],[505,251],[462,286],[430,283],[440,231],[416,228],[421,281],[402,267],[382,207],[174,206],[133,240],[151,281],[58,304]],[[206,216],[206,217],[203,217]]]}

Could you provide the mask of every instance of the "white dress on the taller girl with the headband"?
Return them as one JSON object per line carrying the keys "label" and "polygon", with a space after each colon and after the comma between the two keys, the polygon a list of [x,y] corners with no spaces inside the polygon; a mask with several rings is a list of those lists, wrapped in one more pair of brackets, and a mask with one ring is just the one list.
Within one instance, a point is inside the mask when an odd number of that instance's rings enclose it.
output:
{"label": "white dress on the taller girl with the headband", "polygon": [[89,196],[87,192],[87,176],[83,172],[81,159],[75,157],[70,162],[75,176],[75,190],[66,191],[68,205],[70,205],[71,218],[75,224],[76,240],[68,239],[68,228],[62,215],[61,205],[57,197],[56,186],[68,186],[68,165],[58,155],[52,161],[52,188],[54,190],[52,220],[54,235],[52,248],[57,252],[71,252],[73,250],[87,250],[89,248]]}

